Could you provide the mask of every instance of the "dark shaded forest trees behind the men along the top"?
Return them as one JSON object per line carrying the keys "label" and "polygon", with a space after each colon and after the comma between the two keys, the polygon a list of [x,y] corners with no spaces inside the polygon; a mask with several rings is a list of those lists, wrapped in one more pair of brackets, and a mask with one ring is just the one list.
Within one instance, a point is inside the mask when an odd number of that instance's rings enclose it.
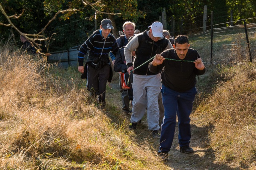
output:
{"label": "dark shaded forest trees behind the men along the top", "polygon": [[[34,35],[30,36],[31,40],[45,52],[81,45],[95,29],[99,29],[100,21],[104,18],[112,20],[112,33],[118,37],[118,31],[122,31],[125,21],[134,21],[136,29],[144,31],[159,20],[164,8],[167,21],[165,29],[170,33],[174,29],[172,36],[202,31],[205,5],[207,29],[211,25],[211,12],[214,14],[213,24],[234,21],[236,25],[241,24],[242,19],[256,16],[256,0],[101,0],[97,3],[91,0],[4,0],[0,5],[9,16],[0,15],[1,41],[6,42],[12,37],[18,47],[22,45],[20,33],[9,24],[9,19],[22,33]],[[79,11],[60,12],[52,20],[58,11],[67,9]],[[49,20],[52,22],[45,27]],[[175,27],[172,28],[174,20]],[[44,27],[42,36],[47,41],[38,41],[40,37],[37,33]]]}

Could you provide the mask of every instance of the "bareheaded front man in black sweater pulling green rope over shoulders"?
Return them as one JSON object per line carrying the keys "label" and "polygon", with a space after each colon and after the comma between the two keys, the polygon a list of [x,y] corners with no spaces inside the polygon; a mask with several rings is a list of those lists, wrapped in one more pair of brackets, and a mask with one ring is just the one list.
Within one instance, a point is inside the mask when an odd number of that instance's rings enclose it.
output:
{"label": "bareheaded front man in black sweater pulling green rope over shoulders", "polygon": [[194,150],[189,147],[190,113],[196,91],[196,75],[205,72],[204,63],[199,53],[189,48],[188,37],[178,35],[174,40],[173,49],[168,49],[157,54],[149,63],[151,72],[162,69],[162,100],[164,104],[164,119],[161,126],[160,147],[158,154],[168,160],[168,152],[171,149],[178,115],[179,145],[181,153],[191,153]]}

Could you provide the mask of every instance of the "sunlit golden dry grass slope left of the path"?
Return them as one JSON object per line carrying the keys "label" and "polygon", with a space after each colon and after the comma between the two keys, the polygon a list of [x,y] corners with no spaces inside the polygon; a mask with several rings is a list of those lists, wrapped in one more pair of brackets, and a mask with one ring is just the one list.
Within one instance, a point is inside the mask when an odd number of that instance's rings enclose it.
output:
{"label": "sunlit golden dry grass slope left of the path", "polygon": [[1,170],[168,169],[127,122],[95,107],[77,70],[9,49],[0,49]]}

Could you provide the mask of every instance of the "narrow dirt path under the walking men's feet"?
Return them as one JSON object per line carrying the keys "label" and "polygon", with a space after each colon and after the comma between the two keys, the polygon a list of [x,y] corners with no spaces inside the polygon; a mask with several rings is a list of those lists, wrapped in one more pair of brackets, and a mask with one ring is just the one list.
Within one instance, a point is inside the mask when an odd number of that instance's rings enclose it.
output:
{"label": "narrow dirt path under the walking men's feet", "polygon": [[[111,84],[111,86],[118,92],[115,96],[112,96],[112,98],[116,98],[115,105],[121,110],[122,101],[120,99],[120,92],[118,91],[119,87],[116,86],[116,84]],[[123,114],[122,116],[129,120],[131,115]],[[178,126],[176,124],[174,141],[168,157],[169,160],[165,164],[170,166],[172,170],[242,170],[240,168],[230,168],[227,164],[216,163],[216,157],[213,150],[208,148],[208,134],[206,128],[200,127],[200,124],[200,120],[193,117],[192,114],[192,138],[190,140],[190,147],[194,149],[194,152],[190,154],[180,153],[178,146]],[[159,139],[152,139],[150,131],[148,130],[146,114],[144,115],[142,122],[138,124],[134,133],[134,140],[136,140],[137,143],[144,143],[144,141],[148,141],[147,145],[150,145],[150,147],[153,148],[153,152],[158,150]]]}

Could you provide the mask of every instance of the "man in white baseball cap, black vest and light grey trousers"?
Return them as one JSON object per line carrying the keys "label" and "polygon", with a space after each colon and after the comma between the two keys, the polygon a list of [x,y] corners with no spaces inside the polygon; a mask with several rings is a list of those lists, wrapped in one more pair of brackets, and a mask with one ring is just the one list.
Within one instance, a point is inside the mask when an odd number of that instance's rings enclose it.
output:
{"label": "man in white baseball cap, black vest and light grey trousers", "polygon": [[[168,39],[163,36],[163,25],[156,21],[150,25],[150,30],[136,34],[124,47],[127,72],[133,72],[133,100],[132,116],[129,129],[137,128],[145,114],[148,114],[148,129],[153,138],[160,138],[158,95],[161,87],[160,72],[152,73],[148,70],[149,59],[166,49],[172,48]],[[132,51],[136,49],[136,58],[132,60]],[[159,70],[160,71],[160,70]]]}

